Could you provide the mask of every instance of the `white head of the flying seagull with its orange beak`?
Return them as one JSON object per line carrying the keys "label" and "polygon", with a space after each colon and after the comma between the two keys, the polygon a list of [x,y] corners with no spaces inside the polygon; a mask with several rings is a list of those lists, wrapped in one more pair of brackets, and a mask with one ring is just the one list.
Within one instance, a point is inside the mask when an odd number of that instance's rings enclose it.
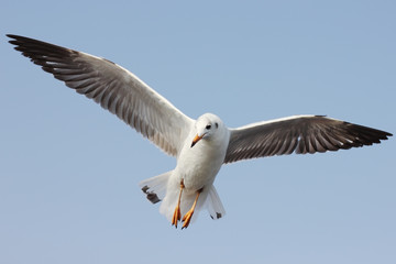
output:
{"label": "white head of the flying seagull with its orange beak", "polygon": [[197,134],[193,140],[191,147],[200,140],[213,140],[222,136],[224,128],[223,122],[218,116],[212,113],[200,116],[195,123]]}

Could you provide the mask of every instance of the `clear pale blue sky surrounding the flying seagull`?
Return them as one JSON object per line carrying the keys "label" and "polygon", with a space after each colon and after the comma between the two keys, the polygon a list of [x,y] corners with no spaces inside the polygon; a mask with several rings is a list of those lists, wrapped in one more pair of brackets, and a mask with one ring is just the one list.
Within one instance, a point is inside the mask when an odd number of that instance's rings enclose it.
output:
{"label": "clear pale blue sky surrounding the flying seagull", "polygon": [[175,160],[4,36],[113,61],[191,118],[315,113],[396,133],[395,13],[381,0],[3,0],[0,263],[396,263],[395,138],[223,166],[226,217],[175,230],[138,186]]}

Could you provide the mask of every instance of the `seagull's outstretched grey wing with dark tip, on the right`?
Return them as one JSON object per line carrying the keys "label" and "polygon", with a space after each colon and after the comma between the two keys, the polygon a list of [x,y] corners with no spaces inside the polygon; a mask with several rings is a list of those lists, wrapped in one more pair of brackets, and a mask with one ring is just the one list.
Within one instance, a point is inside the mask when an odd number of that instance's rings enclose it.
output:
{"label": "seagull's outstretched grey wing with dark tip, on the right", "polygon": [[232,129],[224,163],[348,150],[387,140],[391,133],[322,116],[294,116]]}

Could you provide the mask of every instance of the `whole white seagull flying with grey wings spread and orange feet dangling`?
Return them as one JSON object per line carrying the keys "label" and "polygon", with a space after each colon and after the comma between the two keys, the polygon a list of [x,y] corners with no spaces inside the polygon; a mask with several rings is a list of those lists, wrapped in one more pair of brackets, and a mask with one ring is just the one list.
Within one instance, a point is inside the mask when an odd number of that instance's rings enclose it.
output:
{"label": "whole white seagull flying with grey wings spread and orange feet dangling", "polygon": [[194,120],[134,74],[101,57],[8,34],[14,48],[78,94],[116,114],[166,154],[173,170],[143,180],[147,199],[172,226],[187,228],[200,209],[226,215],[213,186],[223,164],[242,160],[322,153],[381,143],[391,133],[328,118],[293,116],[230,129],[212,113]]}

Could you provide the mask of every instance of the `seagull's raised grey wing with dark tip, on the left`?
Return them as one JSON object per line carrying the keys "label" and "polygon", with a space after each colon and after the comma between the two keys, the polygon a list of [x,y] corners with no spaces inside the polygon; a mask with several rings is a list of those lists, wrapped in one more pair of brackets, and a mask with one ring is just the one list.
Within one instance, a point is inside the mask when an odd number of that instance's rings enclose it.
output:
{"label": "seagull's raised grey wing with dark tip, on the left", "polygon": [[164,152],[177,155],[193,120],[132,73],[105,58],[29,37],[8,35],[34,64],[100,103]]}

